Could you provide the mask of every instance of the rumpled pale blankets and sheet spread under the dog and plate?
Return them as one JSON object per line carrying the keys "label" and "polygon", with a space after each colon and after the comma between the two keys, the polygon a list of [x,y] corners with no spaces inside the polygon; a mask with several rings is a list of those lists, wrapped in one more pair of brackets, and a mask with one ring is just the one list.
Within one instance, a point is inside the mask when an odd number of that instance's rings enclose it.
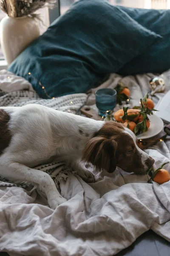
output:
{"label": "rumpled pale blankets and sheet spread under the dog and plate", "polygon": [[[170,90],[170,71],[163,75],[166,91]],[[150,90],[149,81],[153,76],[151,73],[126,77],[111,74],[100,87],[107,84],[114,88],[118,81],[123,81],[130,88],[135,104]],[[4,106],[36,103],[79,114],[83,105],[93,107],[94,104],[94,89],[88,94],[40,99],[28,81],[7,70],[0,71],[0,81],[0,105]],[[162,96],[163,93],[156,94],[153,98],[155,103]],[[169,138],[148,148],[146,152],[156,160],[156,166],[169,161]],[[68,201],[54,211],[48,207],[43,195],[35,190],[30,192],[31,187],[1,179],[1,251],[11,256],[110,256],[117,253],[137,255],[128,253],[138,250],[138,255],[143,256],[141,246],[151,246],[153,255],[169,255],[166,248],[170,246],[170,182],[161,186],[157,183],[148,184],[147,175],[127,174],[116,169],[110,177],[103,174],[96,183],[87,184],[76,170],[69,172],[62,161],[36,168],[48,172],[54,178],[62,196]],[[167,170],[170,171],[170,164]],[[153,230],[167,242],[151,231],[138,239],[147,230]],[[135,240],[136,245],[131,247],[133,249],[122,251]],[[153,246],[153,241],[160,245]]]}

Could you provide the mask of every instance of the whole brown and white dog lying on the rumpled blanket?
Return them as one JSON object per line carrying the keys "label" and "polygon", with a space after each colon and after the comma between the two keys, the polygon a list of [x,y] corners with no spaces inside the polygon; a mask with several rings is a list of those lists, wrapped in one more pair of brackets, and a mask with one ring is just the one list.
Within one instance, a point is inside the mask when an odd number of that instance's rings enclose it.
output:
{"label": "whole brown and white dog lying on the rumpled blanket", "polygon": [[96,170],[144,174],[154,163],[136,145],[136,137],[116,122],[103,122],[30,104],[0,107],[0,176],[27,181],[45,193],[55,209],[65,202],[50,175],[35,166],[65,160],[87,182],[94,175],[81,163],[92,163]]}

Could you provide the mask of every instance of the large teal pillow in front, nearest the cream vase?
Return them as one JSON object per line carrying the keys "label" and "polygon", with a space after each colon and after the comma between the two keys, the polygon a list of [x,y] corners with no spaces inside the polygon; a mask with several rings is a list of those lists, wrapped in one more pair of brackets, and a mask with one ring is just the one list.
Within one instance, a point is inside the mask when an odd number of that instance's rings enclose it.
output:
{"label": "large teal pillow in front, nearest the cream vase", "polygon": [[160,39],[107,0],[79,0],[8,70],[42,98],[85,93]]}

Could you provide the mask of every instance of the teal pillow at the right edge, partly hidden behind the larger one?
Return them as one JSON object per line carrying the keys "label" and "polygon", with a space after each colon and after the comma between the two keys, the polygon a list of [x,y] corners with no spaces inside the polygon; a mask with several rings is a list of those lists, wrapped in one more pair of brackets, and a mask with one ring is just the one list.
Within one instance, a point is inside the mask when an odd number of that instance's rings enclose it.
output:
{"label": "teal pillow at the right edge, partly hidden behind the larger one", "polygon": [[170,68],[170,10],[120,9],[142,26],[162,36],[162,40],[150,45],[139,56],[119,70],[121,75],[163,73]]}

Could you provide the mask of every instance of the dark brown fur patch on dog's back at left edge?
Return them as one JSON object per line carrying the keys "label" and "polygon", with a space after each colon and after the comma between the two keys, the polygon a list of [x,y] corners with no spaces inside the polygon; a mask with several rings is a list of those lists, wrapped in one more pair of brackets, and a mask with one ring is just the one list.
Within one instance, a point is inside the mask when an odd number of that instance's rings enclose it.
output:
{"label": "dark brown fur patch on dog's back at left edge", "polygon": [[0,155],[11,141],[11,133],[8,129],[9,120],[10,115],[3,109],[0,109]]}

